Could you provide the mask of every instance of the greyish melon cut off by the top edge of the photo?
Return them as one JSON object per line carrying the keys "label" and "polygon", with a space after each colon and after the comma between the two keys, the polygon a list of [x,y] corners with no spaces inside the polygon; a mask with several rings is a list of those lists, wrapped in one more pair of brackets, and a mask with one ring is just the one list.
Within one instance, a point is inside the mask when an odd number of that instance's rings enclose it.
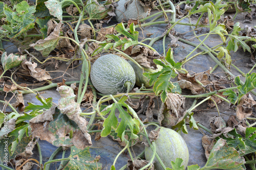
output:
{"label": "greyish melon cut off by the top edge of the photo", "polygon": [[[127,6],[125,8],[125,3]],[[139,0],[120,0],[115,10],[118,22],[128,21],[129,19],[142,19],[147,16],[147,7],[143,7]]]}

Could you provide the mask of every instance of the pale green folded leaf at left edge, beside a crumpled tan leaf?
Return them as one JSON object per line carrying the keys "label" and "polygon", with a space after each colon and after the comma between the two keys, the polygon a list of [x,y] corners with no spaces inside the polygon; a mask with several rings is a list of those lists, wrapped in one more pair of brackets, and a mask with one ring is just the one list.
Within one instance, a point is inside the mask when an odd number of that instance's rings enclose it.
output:
{"label": "pale green folded leaf at left edge, beside a crumpled tan leaf", "polygon": [[11,53],[11,54],[9,54],[9,56],[7,56],[7,53],[5,52],[2,54],[1,62],[2,62],[4,70],[7,71],[8,69],[11,69],[13,67],[20,65],[22,63],[23,59],[26,59],[25,55],[16,56]]}

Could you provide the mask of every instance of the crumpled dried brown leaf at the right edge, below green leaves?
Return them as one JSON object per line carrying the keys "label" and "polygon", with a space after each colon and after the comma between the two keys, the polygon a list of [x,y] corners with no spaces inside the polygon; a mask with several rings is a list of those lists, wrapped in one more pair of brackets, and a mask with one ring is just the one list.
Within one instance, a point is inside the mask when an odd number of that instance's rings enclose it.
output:
{"label": "crumpled dried brown leaf at the right edge, below green leaves", "polygon": [[253,100],[250,94],[242,96],[239,105],[237,106],[237,118],[243,120],[252,114],[252,108],[256,107],[256,102]]}

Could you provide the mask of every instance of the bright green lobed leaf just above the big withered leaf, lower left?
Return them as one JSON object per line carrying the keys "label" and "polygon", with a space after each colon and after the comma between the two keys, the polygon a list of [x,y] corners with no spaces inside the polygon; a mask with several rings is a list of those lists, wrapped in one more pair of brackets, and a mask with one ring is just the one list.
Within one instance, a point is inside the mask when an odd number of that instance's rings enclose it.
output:
{"label": "bright green lobed leaf just above the big withered leaf, lower left", "polygon": [[25,108],[24,112],[28,112],[32,110],[32,112],[36,112],[41,109],[50,109],[52,107],[52,98],[47,98],[46,100],[40,98],[39,95],[35,96],[38,101],[42,103],[42,105],[35,105],[33,103],[28,103],[28,106]]}

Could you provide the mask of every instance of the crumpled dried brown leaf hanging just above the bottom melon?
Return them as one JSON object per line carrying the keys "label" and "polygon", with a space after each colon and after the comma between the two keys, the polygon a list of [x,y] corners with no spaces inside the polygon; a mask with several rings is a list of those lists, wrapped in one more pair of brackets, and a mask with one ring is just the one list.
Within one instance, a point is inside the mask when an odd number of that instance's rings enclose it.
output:
{"label": "crumpled dried brown leaf hanging just above the bottom melon", "polygon": [[168,93],[165,103],[160,107],[157,118],[159,124],[161,126],[177,125],[185,116],[184,104],[184,96],[176,93]]}

